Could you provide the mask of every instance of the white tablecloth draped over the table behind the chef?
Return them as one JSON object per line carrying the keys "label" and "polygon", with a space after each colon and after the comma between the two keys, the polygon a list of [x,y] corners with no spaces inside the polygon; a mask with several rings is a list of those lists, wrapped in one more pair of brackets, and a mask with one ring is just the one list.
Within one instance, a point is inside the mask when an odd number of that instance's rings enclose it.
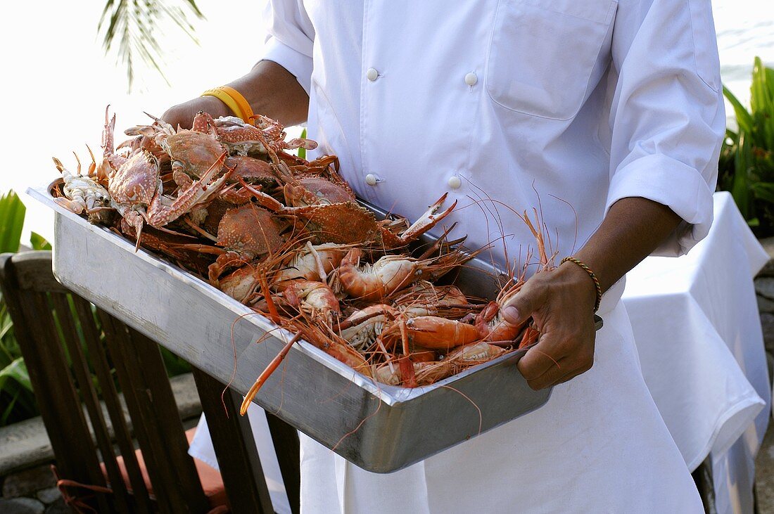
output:
{"label": "white tablecloth draped over the table behind the chef", "polygon": [[718,512],[752,512],[771,389],[752,277],[769,259],[731,195],[707,238],[626,277],[642,375],[691,470],[711,454]]}

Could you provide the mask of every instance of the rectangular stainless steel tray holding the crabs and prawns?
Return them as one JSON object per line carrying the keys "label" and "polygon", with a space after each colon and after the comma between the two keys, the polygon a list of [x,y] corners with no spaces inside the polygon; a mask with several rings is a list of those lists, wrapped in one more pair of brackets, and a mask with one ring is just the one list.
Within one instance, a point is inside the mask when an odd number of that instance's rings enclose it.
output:
{"label": "rectangular stainless steel tray holding the crabs and prawns", "polygon": [[[48,191],[27,192],[56,213],[57,279],[222,382],[233,375],[239,393],[292,336],[179,267],[135,253],[133,243],[61,208]],[[484,295],[493,271],[475,260],[457,284]],[[375,383],[300,342],[255,401],[361,468],[389,473],[546,403],[550,390],[531,390],[515,366],[523,353],[406,389]]]}

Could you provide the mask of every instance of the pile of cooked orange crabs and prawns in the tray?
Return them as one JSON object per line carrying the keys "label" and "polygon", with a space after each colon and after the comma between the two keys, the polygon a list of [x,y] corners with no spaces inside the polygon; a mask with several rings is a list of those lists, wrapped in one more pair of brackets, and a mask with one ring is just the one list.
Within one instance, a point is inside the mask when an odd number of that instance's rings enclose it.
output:
{"label": "pile of cooked orange crabs and prawns in the tray", "polygon": [[[299,339],[378,382],[405,387],[536,341],[529,322],[512,325],[500,316],[523,274],[510,277],[497,298],[470,298],[454,285],[454,271],[478,251],[464,249],[464,238],[449,240],[454,226],[438,240],[418,242],[456,206],[443,208],[446,195],[413,223],[378,220],[338,175],[334,155],[293,155],[317,144],[286,141],[277,121],[200,112],[184,130],[152,118],[125,131],[131,138],[116,148],[115,115],[106,111],[101,161],[90,149],[81,175],[80,161],[74,173],[54,158],[62,180],[51,192],[60,206],[296,334],[247,402]],[[540,231],[524,220],[548,269]]]}

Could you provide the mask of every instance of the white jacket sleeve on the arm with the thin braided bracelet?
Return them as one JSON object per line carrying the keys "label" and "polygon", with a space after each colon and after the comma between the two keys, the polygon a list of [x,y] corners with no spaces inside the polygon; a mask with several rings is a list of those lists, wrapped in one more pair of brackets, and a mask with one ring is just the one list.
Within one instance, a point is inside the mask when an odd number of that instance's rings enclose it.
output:
{"label": "white jacket sleeve on the arm with the thin braided bracelet", "polygon": [[621,0],[613,29],[607,209],[629,196],[682,222],[656,254],[686,253],[707,235],[725,131],[709,0]]}

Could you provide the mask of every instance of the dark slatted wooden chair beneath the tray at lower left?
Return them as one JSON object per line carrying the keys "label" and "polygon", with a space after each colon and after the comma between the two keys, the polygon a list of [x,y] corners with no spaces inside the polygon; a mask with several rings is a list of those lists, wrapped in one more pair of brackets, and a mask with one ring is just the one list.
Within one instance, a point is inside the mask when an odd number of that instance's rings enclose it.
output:
{"label": "dark slatted wooden chair beneath the tray at lower left", "polygon": [[[273,512],[248,420],[238,416],[241,397],[226,395],[225,416],[223,384],[194,369],[221,473],[195,463],[156,342],[57,282],[51,263],[45,251],[0,255],[0,289],[70,505],[99,512]],[[269,425],[298,512],[298,436],[277,418],[269,417]]]}

